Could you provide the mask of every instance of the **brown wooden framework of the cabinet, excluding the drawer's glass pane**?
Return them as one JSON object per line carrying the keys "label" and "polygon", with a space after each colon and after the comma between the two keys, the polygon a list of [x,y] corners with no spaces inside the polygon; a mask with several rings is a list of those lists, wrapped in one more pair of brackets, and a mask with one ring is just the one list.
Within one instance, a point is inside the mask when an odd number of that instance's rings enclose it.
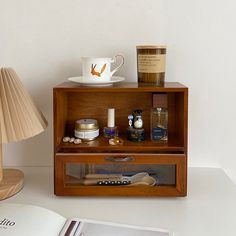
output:
{"label": "brown wooden framework of the cabinet, excluding the drawer's glass pane", "polygon": [[[54,99],[54,166],[55,194],[77,196],[186,196],[187,194],[187,130],[188,130],[188,88],[180,83],[165,83],[164,87],[120,83],[112,87],[82,87],[66,82],[53,91]],[[150,140],[150,111],[153,106],[168,108],[168,142]],[[119,134],[125,140],[122,146],[110,146],[102,137],[107,124],[107,108],[116,109],[116,124]],[[146,139],[130,142],[126,139],[127,115],[132,110],[143,110]],[[94,118],[100,126],[100,137],[90,143],[75,145],[63,143],[64,136],[73,136],[77,119]],[[65,165],[96,162],[99,155],[114,156],[132,153],[142,155],[144,163],[171,163],[176,165],[175,186],[155,188],[70,186],[65,185]],[[86,157],[86,158],[85,158]],[[151,159],[150,159],[151,157]],[[138,159],[139,160],[139,159]],[[115,190],[117,188],[117,190]],[[136,189],[137,188],[137,189]],[[122,191],[121,191],[122,189]],[[124,190],[123,190],[124,189]]]}

